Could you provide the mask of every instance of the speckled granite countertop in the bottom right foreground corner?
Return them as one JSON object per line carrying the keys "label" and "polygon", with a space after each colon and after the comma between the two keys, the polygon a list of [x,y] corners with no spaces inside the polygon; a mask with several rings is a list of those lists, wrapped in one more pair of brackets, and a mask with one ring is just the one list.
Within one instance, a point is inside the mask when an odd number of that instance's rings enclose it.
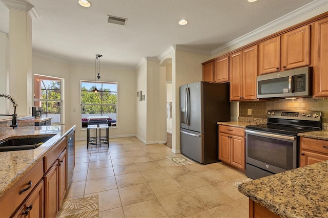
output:
{"label": "speckled granite countertop in the bottom right foreground corner", "polygon": [[328,161],[242,183],[238,190],[281,217],[328,217]]}

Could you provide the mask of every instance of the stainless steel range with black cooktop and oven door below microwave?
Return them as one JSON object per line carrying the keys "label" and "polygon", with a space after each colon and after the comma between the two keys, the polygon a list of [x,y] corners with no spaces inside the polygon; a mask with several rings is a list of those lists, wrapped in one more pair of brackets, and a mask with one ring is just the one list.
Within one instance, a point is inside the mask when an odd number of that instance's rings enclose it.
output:
{"label": "stainless steel range with black cooktop and oven door below microwave", "polygon": [[249,125],[246,132],[246,176],[258,179],[299,166],[298,133],[322,129],[322,113],[271,110],[268,123]]}

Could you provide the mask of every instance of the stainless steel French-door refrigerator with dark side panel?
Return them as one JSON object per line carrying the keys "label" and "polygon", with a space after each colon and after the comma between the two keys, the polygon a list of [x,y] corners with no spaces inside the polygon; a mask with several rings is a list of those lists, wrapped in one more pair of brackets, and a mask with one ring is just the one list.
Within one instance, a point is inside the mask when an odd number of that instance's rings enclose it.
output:
{"label": "stainless steel French-door refrigerator with dark side panel", "polygon": [[180,86],[180,149],[203,164],[219,162],[217,122],[230,121],[229,83]]}

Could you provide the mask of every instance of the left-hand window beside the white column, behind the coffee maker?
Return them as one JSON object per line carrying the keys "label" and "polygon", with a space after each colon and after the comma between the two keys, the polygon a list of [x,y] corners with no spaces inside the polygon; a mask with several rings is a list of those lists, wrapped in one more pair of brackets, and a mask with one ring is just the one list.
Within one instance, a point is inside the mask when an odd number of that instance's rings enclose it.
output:
{"label": "left-hand window beside the white column, behind the coffee maker", "polygon": [[34,106],[41,107],[42,117],[51,117],[51,123],[62,120],[63,99],[61,84],[63,79],[34,75]]}

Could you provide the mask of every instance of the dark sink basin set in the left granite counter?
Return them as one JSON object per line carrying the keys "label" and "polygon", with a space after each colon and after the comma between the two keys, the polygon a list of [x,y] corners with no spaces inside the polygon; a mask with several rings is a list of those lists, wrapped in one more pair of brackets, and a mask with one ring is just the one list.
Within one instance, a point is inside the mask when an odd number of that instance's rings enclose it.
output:
{"label": "dark sink basin set in the left granite counter", "polygon": [[40,136],[40,137],[28,137],[28,138],[15,138],[8,139],[0,142],[0,152],[13,151],[13,150],[29,150],[35,149],[51,139],[54,135]]}

